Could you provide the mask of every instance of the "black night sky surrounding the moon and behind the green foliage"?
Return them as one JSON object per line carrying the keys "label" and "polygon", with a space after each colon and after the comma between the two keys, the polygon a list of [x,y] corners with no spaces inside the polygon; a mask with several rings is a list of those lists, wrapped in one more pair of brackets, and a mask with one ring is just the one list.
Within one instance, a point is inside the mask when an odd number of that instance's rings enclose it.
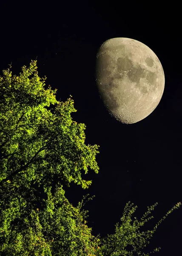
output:
{"label": "black night sky surrounding the moon and behind the green foliage", "polygon": [[[76,206],[82,195],[96,197],[85,205],[92,234],[114,233],[128,201],[137,205],[133,217],[142,217],[147,206],[158,202],[144,230],[152,229],[177,202],[181,192],[182,143],[182,34],[181,8],[153,1],[63,1],[37,4],[1,3],[0,71],[12,62],[17,75],[37,56],[39,76],[47,87],[57,88],[57,100],[71,94],[76,113],[86,125],[85,143],[100,145],[99,174],[89,170],[89,189],[76,184],[65,196]],[[159,6],[161,4],[162,6]],[[145,119],[125,125],[105,110],[94,80],[97,49],[110,38],[141,41],[159,58],[165,73],[165,90],[157,108]],[[2,73],[1,73],[2,75]],[[119,222],[120,223],[120,222]],[[149,252],[159,256],[182,255],[182,207],[158,227]]]}

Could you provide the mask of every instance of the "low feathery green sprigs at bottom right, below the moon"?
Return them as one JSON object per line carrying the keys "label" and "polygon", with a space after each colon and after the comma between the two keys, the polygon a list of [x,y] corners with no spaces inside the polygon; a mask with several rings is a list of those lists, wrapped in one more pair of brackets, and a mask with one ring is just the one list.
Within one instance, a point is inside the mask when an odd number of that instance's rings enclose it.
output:
{"label": "low feathery green sprigs at bottom right, below the moon", "polygon": [[[181,202],[177,203],[171,210],[169,210],[166,215],[156,224],[154,227],[154,230],[147,230],[145,232],[139,232],[139,228],[142,227],[145,222],[149,221],[150,219],[154,218],[154,216],[146,218],[150,213],[151,210],[154,210],[154,207],[157,205],[154,204],[151,207],[148,207],[148,211],[145,212],[142,218],[140,218],[140,221],[137,220],[135,217],[133,224],[131,224],[131,215],[135,212],[137,209],[137,206],[132,207],[134,204],[131,205],[130,201],[126,204],[123,216],[120,219],[122,221],[122,224],[119,225],[119,223],[116,224],[115,234],[108,235],[106,238],[101,239],[102,247],[100,250],[100,253],[104,256],[134,256],[134,255],[140,255],[140,256],[149,256],[151,253],[158,252],[159,248],[154,249],[153,252],[150,252],[148,254],[142,253],[141,249],[147,246],[150,242],[149,239],[152,238],[154,235],[154,232],[156,231],[157,227],[161,222],[171,213],[174,209],[178,209],[181,205]],[[132,208],[131,208],[132,207]],[[128,215],[126,215],[128,212]],[[132,251],[126,250],[128,246],[133,247]],[[97,255],[97,254],[96,254]],[[98,254],[100,255],[100,254]]]}

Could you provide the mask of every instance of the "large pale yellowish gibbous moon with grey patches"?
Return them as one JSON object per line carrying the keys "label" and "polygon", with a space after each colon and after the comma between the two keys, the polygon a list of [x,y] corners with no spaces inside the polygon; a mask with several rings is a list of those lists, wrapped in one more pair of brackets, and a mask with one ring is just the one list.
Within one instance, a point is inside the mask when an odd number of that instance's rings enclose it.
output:
{"label": "large pale yellowish gibbous moon with grey patches", "polygon": [[165,76],[159,58],[148,46],[131,38],[111,38],[98,49],[95,81],[111,116],[133,124],[157,107]]}

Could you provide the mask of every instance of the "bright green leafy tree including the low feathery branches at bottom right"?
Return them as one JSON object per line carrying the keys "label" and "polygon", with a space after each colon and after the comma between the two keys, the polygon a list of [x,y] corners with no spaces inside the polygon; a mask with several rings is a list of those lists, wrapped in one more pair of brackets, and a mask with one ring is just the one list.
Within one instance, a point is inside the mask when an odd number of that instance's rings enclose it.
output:
{"label": "bright green leafy tree including the low feathery branches at bottom right", "polygon": [[[0,76],[1,255],[145,255],[140,252],[146,246],[144,236],[150,239],[159,223],[154,231],[139,233],[146,216],[131,225],[132,208],[128,218],[121,218],[122,226],[116,225],[116,234],[95,237],[86,225],[88,211],[82,209],[89,194],[77,207],[65,198],[63,183],[70,186],[73,181],[87,189],[92,180],[82,180],[81,171],[99,171],[99,145],[85,145],[85,125],[71,118],[74,101],[59,102],[57,89],[44,88],[46,77],[38,76],[37,61],[22,67],[19,76],[12,76],[10,68]],[[55,108],[46,109],[51,104]],[[128,244],[134,247],[131,254],[125,249]]]}

